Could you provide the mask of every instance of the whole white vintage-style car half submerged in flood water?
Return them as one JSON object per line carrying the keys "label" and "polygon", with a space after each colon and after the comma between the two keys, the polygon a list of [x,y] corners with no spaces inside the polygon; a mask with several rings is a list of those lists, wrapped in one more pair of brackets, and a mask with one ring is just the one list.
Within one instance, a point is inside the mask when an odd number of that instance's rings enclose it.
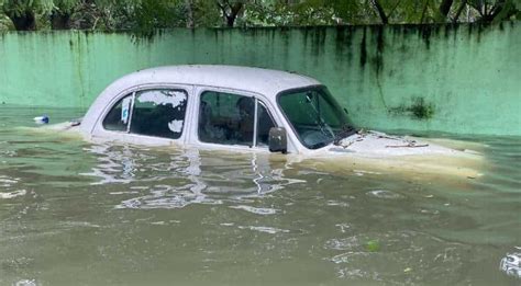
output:
{"label": "whole white vintage-style car half submerged in flood water", "polygon": [[[141,70],[109,85],[69,130],[92,141],[281,152],[435,172],[462,172],[476,153],[355,129],[328,89],[285,71],[233,66]],[[400,160],[397,160],[400,159]],[[334,164],[334,163],[333,163]],[[465,175],[473,176],[476,172]]]}

